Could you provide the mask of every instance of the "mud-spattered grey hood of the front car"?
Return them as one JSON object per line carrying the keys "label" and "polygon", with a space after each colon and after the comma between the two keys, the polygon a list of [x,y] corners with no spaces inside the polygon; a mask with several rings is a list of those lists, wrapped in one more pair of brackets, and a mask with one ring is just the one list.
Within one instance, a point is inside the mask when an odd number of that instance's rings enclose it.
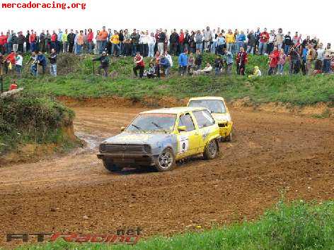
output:
{"label": "mud-spattered grey hood of the front car", "polygon": [[110,137],[103,141],[103,143],[117,143],[117,144],[150,144],[166,140],[171,137],[171,134],[166,133],[127,133],[123,132],[117,136]]}

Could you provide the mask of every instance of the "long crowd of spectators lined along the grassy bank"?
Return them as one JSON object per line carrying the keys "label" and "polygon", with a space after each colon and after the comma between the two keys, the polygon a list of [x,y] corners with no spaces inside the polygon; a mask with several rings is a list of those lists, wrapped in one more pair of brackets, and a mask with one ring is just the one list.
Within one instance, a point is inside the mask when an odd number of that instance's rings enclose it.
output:
{"label": "long crowd of spectators lined along the grassy bank", "polygon": [[[303,39],[304,38],[304,39]],[[202,54],[217,55],[214,61],[202,64]],[[172,56],[178,56],[178,69],[181,76],[199,75],[214,72],[215,75],[232,73],[235,63],[237,74],[244,75],[249,54],[267,56],[267,74],[283,74],[284,65],[289,62],[289,73],[330,73],[334,52],[330,43],[324,47],[317,37],[302,37],[299,32],[284,34],[279,28],[267,31],[254,30],[111,30],[105,26],[93,32],[86,30],[42,30],[38,33],[28,30],[14,32],[8,30],[0,35],[0,61],[6,72],[16,69],[21,76],[23,54],[30,53],[30,73],[38,75],[38,66],[45,73],[47,61],[50,74],[57,76],[57,54],[100,54],[103,75],[108,76],[109,56],[134,56],[134,75],[149,78],[168,76],[173,67]],[[48,55],[48,56],[47,56]],[[145,69],[144,57],[151,57]],[[48,59],[48,60],[47,60]],[[259,76],[254,69],[253,76]],[[256,73],[257,72],[257,73]],[[261,73],[260,73],[261,75]]]}

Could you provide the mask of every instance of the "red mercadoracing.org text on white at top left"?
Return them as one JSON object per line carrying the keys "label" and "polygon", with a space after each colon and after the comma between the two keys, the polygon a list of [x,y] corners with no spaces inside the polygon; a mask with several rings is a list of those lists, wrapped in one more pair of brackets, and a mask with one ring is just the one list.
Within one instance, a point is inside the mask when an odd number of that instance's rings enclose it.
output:
{"label": "red mercadoracing.org text on white at top left", "polygon": [[1,3],[1,8],[8,8],[8,9],[38,9],[38,8],[45,8],[45,9],[81,9],[86,10],[86,3],[64,3],[64,2],[56,2],[56,1],[50,1],[50,2],[42,2],[38,3],[35,1],[25,1],[25,2],[6,2]]}

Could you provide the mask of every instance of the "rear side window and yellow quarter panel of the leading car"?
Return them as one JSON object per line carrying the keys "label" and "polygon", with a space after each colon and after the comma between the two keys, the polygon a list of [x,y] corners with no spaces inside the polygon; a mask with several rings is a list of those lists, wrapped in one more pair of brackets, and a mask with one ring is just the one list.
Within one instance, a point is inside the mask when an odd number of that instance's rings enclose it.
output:
{"label": "rear side window and yellow quarter panel of the leading car", "polygon": [[208,143],[210,134],[214,131],[215,121],[206,109],[192,112],[200,133],[198,153],[202,153]]}

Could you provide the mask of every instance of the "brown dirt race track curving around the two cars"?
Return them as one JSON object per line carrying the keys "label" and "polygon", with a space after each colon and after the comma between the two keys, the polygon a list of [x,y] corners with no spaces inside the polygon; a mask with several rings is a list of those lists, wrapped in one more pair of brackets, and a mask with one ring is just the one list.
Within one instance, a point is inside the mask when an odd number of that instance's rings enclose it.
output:
{"label": "brown dirt race track curving around the two cars", "polygon": [[[74,129],[88,141],[64,157],[0,168],[0,245],[6,232],[114,232],[145,236],[257,218],[287,198],[334,198],[334,121],[232,109],[234,142],[218,160],[200,158],[173,172],[107,172],[96,145],[140,109],[75,108]],[[88,219],[84,219],[84,215]]]}

